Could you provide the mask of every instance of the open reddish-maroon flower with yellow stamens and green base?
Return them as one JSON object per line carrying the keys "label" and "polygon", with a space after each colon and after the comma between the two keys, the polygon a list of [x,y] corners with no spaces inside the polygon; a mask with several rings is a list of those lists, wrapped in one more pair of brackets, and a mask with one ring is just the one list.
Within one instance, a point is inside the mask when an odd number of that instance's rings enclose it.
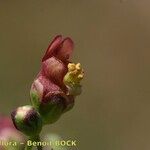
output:
{"label": "open reddish-maroon flower with yellow stamens and green base", "polygon": [[83,69],[79,63],[70,63],[73,47],[69,37],[56,36],[48,46],[41,70],[31,86],[31,102],[45,124],[57,121],[73,107],[75,96],[80,94]]}

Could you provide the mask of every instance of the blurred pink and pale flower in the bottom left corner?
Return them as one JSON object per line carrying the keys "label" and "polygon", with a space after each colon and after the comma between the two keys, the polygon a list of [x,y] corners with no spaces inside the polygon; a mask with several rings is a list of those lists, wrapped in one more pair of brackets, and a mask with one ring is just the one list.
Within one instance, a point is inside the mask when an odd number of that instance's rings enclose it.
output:
{"label": "blurred pink and pale flower in the bottom left corner", "polygon": [[[1,141],[0,149],[1,150],[5,150],[6,148],[9,149],[8,143],[13,141],[14,143],[15,142],[19,143],[14,148],[21,149],[22,145],[20,144],[20,142],[24,142],[24,140],[25,140],[24,136],[14,128],[11,119],[7,116],[0,115],[0,141]],[[10,149],[13,148],[10,147]]]}

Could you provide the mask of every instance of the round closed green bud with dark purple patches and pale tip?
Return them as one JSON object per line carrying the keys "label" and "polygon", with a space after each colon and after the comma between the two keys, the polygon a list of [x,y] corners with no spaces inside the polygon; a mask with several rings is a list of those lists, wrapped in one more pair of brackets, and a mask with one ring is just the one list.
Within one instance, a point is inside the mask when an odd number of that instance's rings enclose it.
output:
{"label": "round closed green bud with dark purple patches and pale tip", "polygon": [[14,126],[27,136],[36,136],[42,129],[39,113],[30,105],[18,107],[11,113]]}

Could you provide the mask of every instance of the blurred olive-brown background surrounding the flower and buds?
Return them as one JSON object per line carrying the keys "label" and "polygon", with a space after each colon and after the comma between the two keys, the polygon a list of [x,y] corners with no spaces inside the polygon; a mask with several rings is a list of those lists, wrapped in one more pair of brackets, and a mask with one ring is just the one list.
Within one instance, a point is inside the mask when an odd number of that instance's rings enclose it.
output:
{"label": "blurred olive-brown background surrounding the flower and buds", "polygon": [[44,132],[79,150],[150,149],[150,1],[0,0],[0,112],[29,103],[49,41],[75,42],[83,94]]}

